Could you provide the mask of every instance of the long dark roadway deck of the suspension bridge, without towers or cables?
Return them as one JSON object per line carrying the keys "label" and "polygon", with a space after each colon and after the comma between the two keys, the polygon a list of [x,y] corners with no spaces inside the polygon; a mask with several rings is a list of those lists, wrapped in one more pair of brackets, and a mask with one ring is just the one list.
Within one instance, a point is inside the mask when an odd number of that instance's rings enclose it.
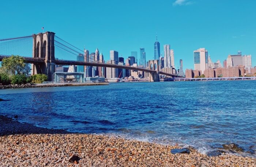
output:
{"label": "long dark roadway deck of the suspension bridge, without towers or cables", "polygon": [[[2,61],[4,58],[7,58],[10,56],[7,55],[0,55],[0,61]],[[44,63],[45,59],[43,58],[33,58],[33,57],[23,57],[26,61],[26,63]],[[145,72],[156,72],[153,69],[145,69],[145,68],[139,68],[139,67],[131,67],[131,66],[125,66],[125,65],[117,65],[117,64],[107,64],[107,63],[98,63],[98,62],[85,62],[85,61],[73,61],[73,60],[59,60],[55,59],[56,65],[87,65],[87,66],[99,66],[99,67],[111,67],[111,68],[123,68],[123,69],[132,69],[132,70],[138,70],[138,71],[145,71]],[[178,75],[165,73],[159,71],[162,75],[172,76],[172,77],[180,77]]]}

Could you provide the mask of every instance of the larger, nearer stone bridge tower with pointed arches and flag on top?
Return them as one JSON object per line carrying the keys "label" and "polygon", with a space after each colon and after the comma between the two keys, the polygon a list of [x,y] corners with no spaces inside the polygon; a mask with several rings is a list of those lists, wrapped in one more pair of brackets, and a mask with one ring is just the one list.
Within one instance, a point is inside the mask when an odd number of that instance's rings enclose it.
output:
{"label": "larger, nearer stone bridge tower with pointed arches and flag on top", "polygon": [[45,59],[44,63],[31,64],[31,75],[42,73],[52,81],[55,72],[54,32],[33,34],[33,58]]}

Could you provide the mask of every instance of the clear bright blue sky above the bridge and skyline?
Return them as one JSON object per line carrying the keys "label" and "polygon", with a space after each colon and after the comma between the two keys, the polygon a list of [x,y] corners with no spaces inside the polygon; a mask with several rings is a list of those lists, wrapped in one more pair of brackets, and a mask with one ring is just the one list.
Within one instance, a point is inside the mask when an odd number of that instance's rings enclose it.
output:
{"label": "clear bright blue sky above the bridge and skyline", "polygon": [[2,1],[0,39],[45,31],[90,52],[98,47],[128,58],[144,47],[153,59],[155,35],[174,49],[175,65],[193,68],[193,50],[206,48],[213,61],[252,55],[256,65],[255,0],[63,0]]}

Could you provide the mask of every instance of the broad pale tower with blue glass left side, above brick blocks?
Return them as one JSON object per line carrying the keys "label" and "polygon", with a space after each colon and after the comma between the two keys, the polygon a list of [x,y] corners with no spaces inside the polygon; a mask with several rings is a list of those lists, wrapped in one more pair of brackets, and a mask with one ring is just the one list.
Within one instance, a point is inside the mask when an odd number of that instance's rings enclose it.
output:
{"label": "broad pale tower with blue glass left side, above brick blocks", "polygon": [[194,67],[204,73],[208,69],[208,51],[205,48],[199,48],[194,51]]}

